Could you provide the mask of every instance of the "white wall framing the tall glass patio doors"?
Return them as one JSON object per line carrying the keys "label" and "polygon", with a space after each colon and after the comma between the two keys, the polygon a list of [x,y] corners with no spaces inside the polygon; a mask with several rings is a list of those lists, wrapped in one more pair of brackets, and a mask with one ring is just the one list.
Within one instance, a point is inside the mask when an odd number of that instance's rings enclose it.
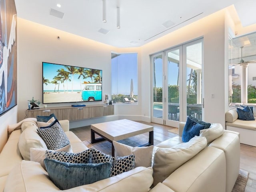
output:
{"label": "white wall framing the tall glass patio doors", "polygon": [[[150,116],[150,54],[204,38],[204,120],[225,125],[225,11],[221,10],[142,46],[142,114]],[[211,94],[215,98],[211,98]]]}

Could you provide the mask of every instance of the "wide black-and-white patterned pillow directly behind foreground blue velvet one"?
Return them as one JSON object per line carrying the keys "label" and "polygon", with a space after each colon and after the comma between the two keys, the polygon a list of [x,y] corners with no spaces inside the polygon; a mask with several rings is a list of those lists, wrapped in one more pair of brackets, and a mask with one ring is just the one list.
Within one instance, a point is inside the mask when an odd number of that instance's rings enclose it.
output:
{"label": "wide black-and-white patterned pillow directly behind foreground blue velvet one", "polygon": [[54,152],[46,150],[45,158],[54,159],[60,162],[68,163],[91,163],[90,154],[92,149],[80,153]]}

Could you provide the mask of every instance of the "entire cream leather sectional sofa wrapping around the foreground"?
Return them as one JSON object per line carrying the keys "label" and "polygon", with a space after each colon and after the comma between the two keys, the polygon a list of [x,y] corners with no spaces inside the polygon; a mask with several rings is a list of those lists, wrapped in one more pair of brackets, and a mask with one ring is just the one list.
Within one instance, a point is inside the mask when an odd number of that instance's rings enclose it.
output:
{"label": "entire cream leather sectional sofa wrapping around the foreground", "polygon": [[[69,131],[68,120],[60,121],[60,124],[70,140],[74,153],[88,149],[73,132]],[[153,168],[137,167],[117,176],[64,191],[148,192],[151,188],[150,192],[231,192],[239,172],[239,133],[223,130],[222,127],[220,129],[220,124],[213,124],[204,134],[200,134],[200,137],[195,137],[183,144],[184,150],[182,147],[179,150],[178,145],[182,145],[181,136],[184,125],[184,122],[180,123],[179,136],[154,147]],[[36,119],[30,118],[29,121],[22,122],[22,129],[12,128],[8,141],[0,153],[0,191],[61,191],[39,163],[23,160],[18,143],[22,130],[27,127],[36,128]],[[166,156],[170,159],[161,162],[161,156],[158,156],[160,148],[163,152],[172,148],[175,158],[170,154]],[[177,152],[176,155],[175,152]],[[176,161],[176,158],[180,158],[181,162]],[[156,168],[156,162],[158,168]],[[172,162],[168,165],[168,169],[175,170],[163,181],[154,182],[154,179],[157,181],[159,178],[155,173],[153,174],[153,170],[159,173],[157,169],[167,168],[166,162]],[[154,185],[152,185],[153,182]]]}

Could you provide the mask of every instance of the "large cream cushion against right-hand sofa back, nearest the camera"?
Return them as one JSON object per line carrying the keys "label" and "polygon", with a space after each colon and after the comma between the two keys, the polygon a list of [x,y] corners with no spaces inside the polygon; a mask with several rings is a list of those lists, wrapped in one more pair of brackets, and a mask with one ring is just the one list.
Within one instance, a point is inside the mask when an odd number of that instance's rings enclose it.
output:
{"label": "large cream cushion against right-hand sofa back, nearest the camera", "polygon": [[172,148],[158,148],[154,154],[154,186],[159,182],[163,182],[178,167],[203,150],[206,145],[207,140],[205,137],[195,136],[188,142]]}

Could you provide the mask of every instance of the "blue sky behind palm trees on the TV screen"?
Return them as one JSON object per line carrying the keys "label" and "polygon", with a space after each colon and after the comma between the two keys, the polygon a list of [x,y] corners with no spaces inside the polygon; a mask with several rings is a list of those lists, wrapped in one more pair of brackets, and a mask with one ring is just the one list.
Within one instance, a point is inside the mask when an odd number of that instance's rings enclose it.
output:
{"label": "blue sky behind palm trees on the TV screen", "polygon": [[[43,76],[45,79],[48,79],[50,82],[53,80],[54,76],[57,76],[58,72],[57,70],[63,68],[64,70],[67,70],[64,65],[59,65],[59,64],[50,64],[50,63],[45,63],[43,62]],[[73,90],[80,90],[80,79],[78,79],[78,74],[74,74],[74,83],[73,83]],[[101,71],[101,76],[102,76],[102,71]],[[92,78],[93,79],[93,78]],[[91,78],[82,78],[81,82],[84,81],[90,81],[92,82]],[[72,80],[72,75],[70,75],[70,80]],[[54,90],[55,84],[48,83],[48,85],[43,85],[44,90]],[[66,87],[66,81],[65,81],[65,89]],[[82,89],[84,88],[84,85],[82,84]],[[59,87],[60,90],[63,90],[63,84],[60,84]],[[72,81],[68,81],[68,89],[72,89]],[[58,90],[58,85],[56,86],[56,90]]]}

